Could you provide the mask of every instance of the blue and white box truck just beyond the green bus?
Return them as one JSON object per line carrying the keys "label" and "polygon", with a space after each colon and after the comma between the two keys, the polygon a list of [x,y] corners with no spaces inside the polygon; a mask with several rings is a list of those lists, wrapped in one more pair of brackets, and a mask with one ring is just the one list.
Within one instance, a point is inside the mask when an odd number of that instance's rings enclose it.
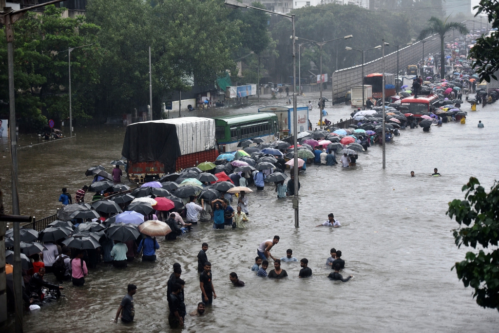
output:
{"label": "blue and white box truck just beyond the green bus", "polygon": [[[277,116],[277,124],[280,139],[293,135],[293,107],[287,106],[265,106],[258,109],[259,113],[273,113]],[[308,130],[308,106],[297,106],[297,130],[303,132]]]}

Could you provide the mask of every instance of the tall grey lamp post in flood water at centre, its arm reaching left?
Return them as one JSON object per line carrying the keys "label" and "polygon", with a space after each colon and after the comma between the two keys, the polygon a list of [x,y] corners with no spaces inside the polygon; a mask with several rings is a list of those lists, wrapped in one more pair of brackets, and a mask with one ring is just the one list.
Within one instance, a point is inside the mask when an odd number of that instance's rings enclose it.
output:
{"label": "tall grey lamp post in flood water at centre, its arm reaching left", "polygon": [[286,15],[281,13],[276,13],[270,10],[253,7],[245,3],[241,3],[237,0],[225,0],[224,4],[229,8],[238,9],[238,8],[252,8],[256,10],[261,10],[268,12],[270,14],[275,14],[279,16],[284,16],[291,21],[291,29],[292,35],[291,39],[293,40],[293,170],[294,170],[294,198],[293,198],[293,209],[294,209],[294,227],[299,227],[299,210],[298,210],[298,142],[296,135],[298,134],[298,117],[296,114],[296,38],[294,35],[294,14]]}

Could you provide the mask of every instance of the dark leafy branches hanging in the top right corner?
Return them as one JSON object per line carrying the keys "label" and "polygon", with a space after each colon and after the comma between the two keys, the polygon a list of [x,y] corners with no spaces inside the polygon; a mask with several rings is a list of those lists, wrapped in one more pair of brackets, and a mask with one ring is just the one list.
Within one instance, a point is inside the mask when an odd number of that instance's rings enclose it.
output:
{"label": "dark leafy branches hanging in the top right corner", "polygon": [[[477,15],[487,14],[487,19],[493,28],[499,28],[499,2],[493,0],[481,0],[480,5],[474,7]],[[470,57],[476,59],[473,68],[477,71],[481,80],[491,82],[491,77],[497,80],[494,74],[499,69],[499,31],[493,31],[490,35],[482,35],[477,39],[475,46],[470,50]]]}

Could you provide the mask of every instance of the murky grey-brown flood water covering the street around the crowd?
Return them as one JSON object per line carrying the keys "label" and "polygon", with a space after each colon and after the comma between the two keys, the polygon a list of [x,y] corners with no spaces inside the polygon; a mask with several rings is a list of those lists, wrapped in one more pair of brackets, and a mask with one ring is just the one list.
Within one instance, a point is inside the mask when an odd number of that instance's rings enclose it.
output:
{"label": "murky grey-brown flood water covering the street around the crowd", "polygon": [[[317,96],[313,95],[317,101]],[[300,97],[299,105],[311,97]],[[260,105],[283,105],[285,99]],[[313,102],[316,105],[316,102]],[[255,112],[257,106],[237,110],[195,112],[218,116]],[[25,332],[495,332],[497,310],[480,308],[451,271],[466,249],[454,244],[458,224],[446,216],[447,203],[464,198],[461,187],[471,175],[490,188],[499,174],[499,103],[469,111],[467,124],[444,124],[407,129],[387,144],[386,169],[380,147],[359,154],[357,167],[309,166],[300,176],[300,227],[294,227],[290,199],[277,199],[274,187],[250,193],[247,229],[213,230],[201,224],[177,241],[160,239],[156,263],[138,260],[125,270],[100,265],[90,271],[85,286],[64,283],[66,298],[26,315]],[[317,108],[314,108],[316,111]],[[346,119],[348,106],[327,108],[331,121]],[[318,112],[314,112],[317,115]],[[312,123],[317,119],[312,118]],[[481,120],[485,128],[478,129]],[[121,157],[123,128],[76,128],[77,139],[19,151],[21,214],[42,217],[59,207],[61,187],[74,195],[88,184],[87,167]],[[21,137],[21,146],[34,139]],[[2,142],[0,176],[6,212],[10,212],[9,152]],[[431,177],[438,167],[441,177]],[[414,170],[416,177],[409,173]],[[333,212],[342,227],[314,227]],[[298,279],[299,264],[283,263],[287,279],[256,277],[250,266],[256,248],[273,235],[280,242],[271,253],[282,257],[291,248],[307,258],[312,278]],[[182,265],[187,312],[201,299],[197,253],[207,242],[213,284],[218,298],[204,317],[187,315],[183,330],[168,325],[166,285],[172,264]],[[331,247],[343,252],[347,283],[327,279],[325,267]],[[270,265],[267,272],[272,269]],[[236,289],[229,273],[246,283]],[[48,277],[52,279],[53,277]],[[113,324],[129,283],[138,286],[135,322]],[[12,326],[10,326],[12,328]]]}

